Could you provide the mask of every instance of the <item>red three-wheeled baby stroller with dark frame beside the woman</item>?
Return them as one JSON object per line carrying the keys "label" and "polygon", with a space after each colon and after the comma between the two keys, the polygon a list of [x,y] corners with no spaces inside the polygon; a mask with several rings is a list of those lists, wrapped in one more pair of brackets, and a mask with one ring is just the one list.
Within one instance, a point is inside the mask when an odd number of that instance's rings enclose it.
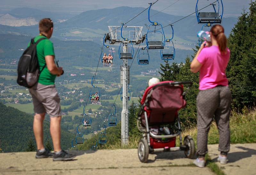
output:
{"label": "red three-wheeled baby stroller with dark frame beside the woman", "polygon": [[[188,84],[185,92],[183,84]],[[157,148],[164,148],[164,151],[184,150],[186,157],[194,157],[195,142],[192,137],[186,136],[182,144],[178,114],[186,106],[184,97],[191,86],[192,82],[164,81],[149,86],[144,92],[137,121],[138,129],[143,132],[138,145],[141,162],[147,162],[148,154]],[[180,147],[175,144],[177,136]]]}

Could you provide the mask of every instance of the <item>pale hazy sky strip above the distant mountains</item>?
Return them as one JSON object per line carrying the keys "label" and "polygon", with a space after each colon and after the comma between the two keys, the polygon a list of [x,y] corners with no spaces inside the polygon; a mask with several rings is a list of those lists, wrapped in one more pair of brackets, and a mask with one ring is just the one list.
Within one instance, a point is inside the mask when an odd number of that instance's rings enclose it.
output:
{"label": "pale hazy sky strip above the distant mountains", "polygon": [[[199,0],[199,8],[214,1]],[[63,11],[79,14],[88,10],[120,6],[147,8],[149,2],[149,0],[0,0],[0,10],[8,11],[18,7],[30,7],[43,11]],[[224,17],[237,17],[241,14],[242,8],[245,7],[248,10],[250,0],[222,0],[222,2],[224,5]],[[173,5],[165,9],[164,13],[186,16],[195,12],[196,9],[196,0],[158,0],[152,6],[152,9],[161,11],[171,4]]]}

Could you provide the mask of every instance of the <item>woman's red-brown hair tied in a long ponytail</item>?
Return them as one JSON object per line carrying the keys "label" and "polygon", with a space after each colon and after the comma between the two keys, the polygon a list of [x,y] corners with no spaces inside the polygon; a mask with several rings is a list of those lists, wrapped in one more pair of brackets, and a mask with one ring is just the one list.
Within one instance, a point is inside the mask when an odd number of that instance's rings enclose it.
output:
{"label": "woman's red-brown hair tied in a long ponytail", "polygon": [[224,34],[224,28],[217,24],[212,26],[210,32],[216,38],[221,54],[225,54],[227,51],[227,38]]}

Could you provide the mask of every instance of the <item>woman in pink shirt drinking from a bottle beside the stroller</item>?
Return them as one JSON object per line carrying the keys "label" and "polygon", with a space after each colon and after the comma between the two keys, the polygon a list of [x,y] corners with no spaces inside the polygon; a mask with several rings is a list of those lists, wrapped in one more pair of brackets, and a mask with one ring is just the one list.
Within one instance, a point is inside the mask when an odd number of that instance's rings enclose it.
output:
{"label": "woman in pink shirt drinking from a bottle beside the stroller", "polygon": [[214,25],[210,30],[211,43],[203,43],[196,57],[191,62],[191,71],[199,74],[199,92],[196,98],[197,106],[197,154],[196,166],[205,166],[207,153],[207,135],[215,118],[220,138],[218,161],[227,163],[227,153],[230,147],[229,115],[231,91],[225,70],[230,58],[227,48],[227,38],[221,25]]}

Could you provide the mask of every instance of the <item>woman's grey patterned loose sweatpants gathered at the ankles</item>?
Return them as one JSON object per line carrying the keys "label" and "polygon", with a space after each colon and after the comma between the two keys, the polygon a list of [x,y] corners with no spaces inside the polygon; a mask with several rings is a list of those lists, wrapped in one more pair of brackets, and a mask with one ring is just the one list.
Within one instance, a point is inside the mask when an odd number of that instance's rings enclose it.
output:
{"label": "woman's grey patterned loose sweatpants gathered at the ankles", "polygon": [[201,90],[196,98],[197,106],[197,154],[207,153],[207,135],[215,117],[219,130],[219,151],[228,152],[230,147],[229,115],[231,91],[227,86]]}

